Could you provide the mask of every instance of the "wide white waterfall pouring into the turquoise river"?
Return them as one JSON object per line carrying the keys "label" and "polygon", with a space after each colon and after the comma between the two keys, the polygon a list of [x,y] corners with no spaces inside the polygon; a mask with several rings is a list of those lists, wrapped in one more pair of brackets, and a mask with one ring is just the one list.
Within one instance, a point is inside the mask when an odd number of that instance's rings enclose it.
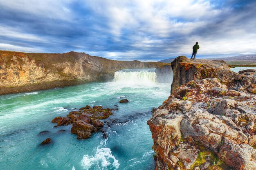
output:
{"label": "wide white waterfall pouring into the turquoise river", "polygon": [[156,82],[155,68],[126,69],[115,72],[114,82],[122,84],[153,84]]}

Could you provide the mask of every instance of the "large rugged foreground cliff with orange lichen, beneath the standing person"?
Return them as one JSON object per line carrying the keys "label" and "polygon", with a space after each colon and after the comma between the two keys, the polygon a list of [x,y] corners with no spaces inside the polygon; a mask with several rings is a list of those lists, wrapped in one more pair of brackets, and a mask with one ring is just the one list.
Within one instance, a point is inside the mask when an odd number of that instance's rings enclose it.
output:
{"label": "large rugged foreground cliff with orange lichen, beneath the standing person", "polygon": [[184,56],[171,65],[173,93],[148,120],[155,169],[256,170],[256,71]]}

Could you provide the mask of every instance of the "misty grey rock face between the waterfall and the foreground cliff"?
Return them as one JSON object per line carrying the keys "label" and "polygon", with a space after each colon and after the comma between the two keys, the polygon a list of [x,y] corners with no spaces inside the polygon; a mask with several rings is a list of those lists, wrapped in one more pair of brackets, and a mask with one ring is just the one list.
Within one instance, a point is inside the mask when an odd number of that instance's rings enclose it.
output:
{"label": "misty grey rock face between the waterfall and the foreground cliff", "polygon": [[157,75],[157,82],[159,83],[171,83],[173,82],[173,70],[171,64],[161,64],[155,68]]}

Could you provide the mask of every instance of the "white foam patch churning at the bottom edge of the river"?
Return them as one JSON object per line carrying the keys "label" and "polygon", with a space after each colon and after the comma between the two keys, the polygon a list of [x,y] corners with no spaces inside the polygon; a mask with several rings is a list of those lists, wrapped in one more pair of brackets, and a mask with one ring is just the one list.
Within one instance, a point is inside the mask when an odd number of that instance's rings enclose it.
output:
{"label": "white foam patch churning at the bottom edge of the river", "polygon": [[110,148],[98,148],[94,156],[84,155],[82,159],[82,166],[85,170],[94,169],[108,170],[109,168],[119,168],[118,160],[111,154]]}

